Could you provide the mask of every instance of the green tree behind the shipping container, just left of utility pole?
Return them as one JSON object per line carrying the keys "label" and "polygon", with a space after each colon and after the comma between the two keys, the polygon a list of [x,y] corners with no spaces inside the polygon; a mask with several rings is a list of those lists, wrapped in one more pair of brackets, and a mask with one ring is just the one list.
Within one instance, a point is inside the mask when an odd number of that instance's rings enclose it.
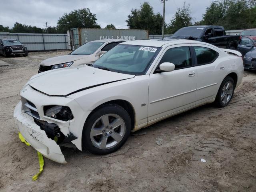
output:
{"label": "green tree behind the shipping container, just left of utility pole", "polygon": [[161,34],[162,21],[161,14],[154,14],[153,7],[148,2],[144,2],[140,10],[132,9],[126,20],[129,29],[144,29],[149,34]]}

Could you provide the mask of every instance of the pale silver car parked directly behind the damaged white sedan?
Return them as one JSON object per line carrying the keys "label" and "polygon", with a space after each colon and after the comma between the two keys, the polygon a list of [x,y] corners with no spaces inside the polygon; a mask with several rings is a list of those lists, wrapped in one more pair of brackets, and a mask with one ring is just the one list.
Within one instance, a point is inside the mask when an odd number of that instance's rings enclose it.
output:
{"label": "pale silver car parked directly behind the damaged white sedan", "polygon": [[96,40],[83,44],[72,53],[43,60],[38,73],[65,67],[77,67],[95,62],[100,56],[126,40]]}

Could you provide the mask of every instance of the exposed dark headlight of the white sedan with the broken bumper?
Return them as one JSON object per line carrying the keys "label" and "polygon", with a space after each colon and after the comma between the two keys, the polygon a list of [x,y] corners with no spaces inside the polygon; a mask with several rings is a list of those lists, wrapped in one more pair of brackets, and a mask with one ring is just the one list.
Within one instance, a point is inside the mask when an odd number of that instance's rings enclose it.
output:
{"label": "exposed dark headlight of the white sedan with the broken bumper", "polygon": [[62,121],[68,121],[74,118],[69,107],[59,105],[44,106],[44,115]]}

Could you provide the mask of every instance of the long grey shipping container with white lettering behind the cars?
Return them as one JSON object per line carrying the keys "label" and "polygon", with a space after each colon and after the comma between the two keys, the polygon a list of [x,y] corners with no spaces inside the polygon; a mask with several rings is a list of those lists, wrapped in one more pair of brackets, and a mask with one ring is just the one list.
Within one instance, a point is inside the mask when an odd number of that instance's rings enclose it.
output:
{"label": "long grey shipping container with white lettering behind the cars", "polygon": [[98,28],[72,28],[69,31],[70,47],[72,50],[94,40],[124,39],[140,40],[148,39],[147,30],[137,29],[98,29]]}

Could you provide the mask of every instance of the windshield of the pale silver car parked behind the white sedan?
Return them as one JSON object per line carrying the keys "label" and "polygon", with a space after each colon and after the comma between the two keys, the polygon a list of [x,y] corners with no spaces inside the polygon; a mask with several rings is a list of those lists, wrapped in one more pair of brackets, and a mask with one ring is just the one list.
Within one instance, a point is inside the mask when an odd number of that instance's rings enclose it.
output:
{"label": "windshield of the pale silver car parked behind the white sedan", "polygon": [[83,44],[76,50],[74,50],[71,55],[91,55],[93,54],[104,42],[91,41]]}

